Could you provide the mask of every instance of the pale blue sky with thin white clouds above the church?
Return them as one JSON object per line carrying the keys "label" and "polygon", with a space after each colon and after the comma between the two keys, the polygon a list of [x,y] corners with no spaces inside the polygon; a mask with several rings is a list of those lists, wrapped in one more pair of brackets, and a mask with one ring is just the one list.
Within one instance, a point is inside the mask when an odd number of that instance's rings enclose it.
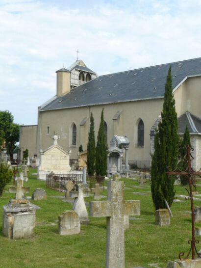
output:
{"label": "pale blue sky with thin white clouds above the church", "polygon": [[20,125],[77,57],[98,75],[201,56],[201,0],[0,0],[0,110]]}

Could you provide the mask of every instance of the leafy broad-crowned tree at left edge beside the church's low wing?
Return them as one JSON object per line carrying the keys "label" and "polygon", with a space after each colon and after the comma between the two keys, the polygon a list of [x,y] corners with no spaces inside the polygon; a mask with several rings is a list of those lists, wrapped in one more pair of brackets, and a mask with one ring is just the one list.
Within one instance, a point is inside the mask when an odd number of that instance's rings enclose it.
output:
{"label": "leafy broad-crowned tree at left edge beside the church's low wing", "polygon": [[0,142],[5,140],[8,153],[15,151],[15,144],[20,139],[20,126],[13,123],[13,119],[11,112],[0,111]]}

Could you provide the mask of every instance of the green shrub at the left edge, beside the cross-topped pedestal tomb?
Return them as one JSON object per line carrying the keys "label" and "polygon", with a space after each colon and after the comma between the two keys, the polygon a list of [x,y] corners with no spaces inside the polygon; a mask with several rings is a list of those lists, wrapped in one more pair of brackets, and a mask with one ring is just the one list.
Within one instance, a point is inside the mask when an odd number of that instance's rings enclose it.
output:
{"label": "green shrub at the left edge, beside the cross-topped pedestal tomb", "polygon": [[11,181],[13,177],[13,171],[10,170],[10,166],[1,161],[0,162],[0,197],[2,196],[3,189],[7,183]]}

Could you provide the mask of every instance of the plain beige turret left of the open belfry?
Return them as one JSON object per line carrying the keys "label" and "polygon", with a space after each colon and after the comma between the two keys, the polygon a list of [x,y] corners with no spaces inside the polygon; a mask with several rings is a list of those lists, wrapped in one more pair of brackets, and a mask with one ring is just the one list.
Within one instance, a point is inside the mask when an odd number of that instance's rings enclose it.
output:
{"label": "plain beige turret left of the open belfry", "polygon": [[71,72],[65,68],[56,71],[56,95],[62,96],[71,89]]}

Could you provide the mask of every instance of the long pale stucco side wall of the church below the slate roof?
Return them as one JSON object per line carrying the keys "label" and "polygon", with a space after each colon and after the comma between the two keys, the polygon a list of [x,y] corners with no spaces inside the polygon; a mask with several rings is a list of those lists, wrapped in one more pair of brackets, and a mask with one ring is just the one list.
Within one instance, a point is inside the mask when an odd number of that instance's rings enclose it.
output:
{"label": "long pale stucco side wall of the church below the slate roof", "polygon": [[[150,160],[150,129],[155,118],[160,114],[163,99],[127,102],[110,105],[100,105],[92,107],[78,107],[62,110],[43,111],[41,113],[41,130],[39,133],[40,145],[42,150],[48,148],[52,141],[50,135],[55,131],[61,138],[58,144],[65,150],[72,150],[71,159],[77,159],[78,147],[80,144],[83,150],[87,149],[89,117],[92,111],[95,122],[95,137],[97,138],[100,114],[104,107],[104,120],[107,123],[107,141],[108,145],[114,134],[127,136],[130,141],[128,159],[129,160]],[[123,110],[117,120],[113,120],[118,110]],[[84,126],[80,126],[81,121],[87,117]],[[145,126],[144,146],[137,146],[137,126],[142,119]],[[77,127],[76,146],[71,145],[72,125]],[[115,125],[115,126],[114,126]],[[47,134],[47,128],[50,127],[50,134]]]}

